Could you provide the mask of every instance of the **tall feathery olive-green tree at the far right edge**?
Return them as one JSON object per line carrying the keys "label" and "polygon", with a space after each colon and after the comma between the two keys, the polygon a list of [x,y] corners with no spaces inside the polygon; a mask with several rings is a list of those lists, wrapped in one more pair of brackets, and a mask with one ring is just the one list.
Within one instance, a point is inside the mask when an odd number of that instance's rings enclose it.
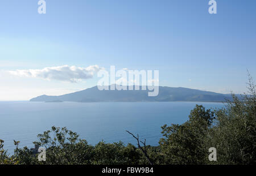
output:
{"label": "tall feathery olive-green tree at the far right edge", "polygon": [[225,109],[216,111],[216,126],[211,145],[218,151],[218,164],[256,163],[256,94],[249,74],[247,94],[228,101]]}

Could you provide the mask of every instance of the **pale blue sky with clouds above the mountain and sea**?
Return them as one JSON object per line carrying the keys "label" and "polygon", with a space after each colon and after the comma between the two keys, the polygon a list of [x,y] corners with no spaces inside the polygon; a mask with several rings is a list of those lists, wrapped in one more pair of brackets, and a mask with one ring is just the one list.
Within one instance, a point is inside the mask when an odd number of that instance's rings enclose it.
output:
{"label": "pale blue sky with clouds above the mountain and sea", "polygon": [[[0,101],[63,95],[98,70],[159,70],[159,85],[246,92],[256,79],[256,1],[0,2]],[[56,71],[57,70],[57,71]]]}

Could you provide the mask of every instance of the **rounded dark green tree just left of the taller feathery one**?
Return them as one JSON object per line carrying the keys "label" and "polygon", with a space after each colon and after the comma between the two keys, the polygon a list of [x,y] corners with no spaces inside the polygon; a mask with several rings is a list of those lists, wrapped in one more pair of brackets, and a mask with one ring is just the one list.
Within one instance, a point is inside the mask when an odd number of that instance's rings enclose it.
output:
{"label": "rounded dark green tree just left of the taller feathery one", "polygon": [[164,138],[159,143],[166,158],[165,164],[204,164],[208,157],[204,141],[213,118],[212,111],[196,105],[187,122],[162,126]]}

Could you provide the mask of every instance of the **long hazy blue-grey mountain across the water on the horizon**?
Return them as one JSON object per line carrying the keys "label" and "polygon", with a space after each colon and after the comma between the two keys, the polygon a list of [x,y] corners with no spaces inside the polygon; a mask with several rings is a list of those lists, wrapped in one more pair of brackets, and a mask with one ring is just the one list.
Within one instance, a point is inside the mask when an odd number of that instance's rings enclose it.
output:
{"label": "long hazy blue-grey mountain across the water on the horizon", "polygon": [[[140,87],[141,90],[141,87]],[[75,101],[75,102],[135,102],[135,101],[208,101],[223,102],[231,100],[231,95],[221,93],[200,91],[189,88],[173,88],[159,86],[159,94],[155,97],[148,97],[147,91],[100,91],[97,86],[83,91],[69,93],[61,96],[42,95],[32,98],[30,101]]]}

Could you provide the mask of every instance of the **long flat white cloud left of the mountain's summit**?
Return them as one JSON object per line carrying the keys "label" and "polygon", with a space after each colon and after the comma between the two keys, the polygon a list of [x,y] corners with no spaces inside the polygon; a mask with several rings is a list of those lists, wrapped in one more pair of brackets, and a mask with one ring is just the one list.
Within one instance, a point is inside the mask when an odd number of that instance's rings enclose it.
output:
{"label": "long flat white cloud left of the mountain's summit", "polygon": [[93,78],[94,74],[100,70],[104,70],[104,68],[101,68],[97,65],[89,66],[86,68],[65,65],[57,67],[46,67],[43,69],[16,70],[9,71],[9,73],[16,76],[26,76],[31,78],[42,78],[47,80],[59,80],[76,83],[77,81]]}

